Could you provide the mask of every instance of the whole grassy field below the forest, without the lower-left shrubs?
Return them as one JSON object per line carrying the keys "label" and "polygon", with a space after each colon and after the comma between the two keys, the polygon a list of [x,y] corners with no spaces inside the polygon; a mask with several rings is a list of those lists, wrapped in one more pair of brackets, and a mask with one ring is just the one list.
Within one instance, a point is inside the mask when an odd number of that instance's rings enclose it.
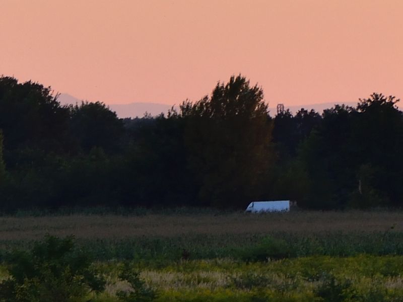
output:
{"label": "whole grassy field below the forest, without the lower-left shrubs", "polygon": [[159,301],[403,301],[403,211],[2,216],[0,255],[46,234],[95,257],[97,301],[127,288],[122,261]]}

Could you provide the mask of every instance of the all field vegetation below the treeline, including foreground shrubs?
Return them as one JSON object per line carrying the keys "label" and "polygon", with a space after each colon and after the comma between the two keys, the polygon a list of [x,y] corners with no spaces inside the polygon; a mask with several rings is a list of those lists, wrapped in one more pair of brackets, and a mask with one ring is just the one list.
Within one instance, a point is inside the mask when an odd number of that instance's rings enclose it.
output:
{"label": "all field vegetation below the treeline, including foreground shrubs", "polygon": [[403,216],[355,213],[0,217],[0,302],[401,301]]}

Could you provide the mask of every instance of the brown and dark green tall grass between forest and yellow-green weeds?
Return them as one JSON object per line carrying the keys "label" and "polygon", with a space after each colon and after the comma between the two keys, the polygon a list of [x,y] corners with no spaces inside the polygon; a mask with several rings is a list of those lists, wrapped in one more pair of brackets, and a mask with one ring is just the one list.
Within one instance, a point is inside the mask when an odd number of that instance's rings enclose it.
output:
{"label": "brown and dark green tall grass between forest and yellow-green weeds", "polygon": [[99,260],[237,259],[267,236],[284,241],[292,257],[403,255],[402,221],[402,211],[3,216],[0,257],[45,234],[74,235]]}

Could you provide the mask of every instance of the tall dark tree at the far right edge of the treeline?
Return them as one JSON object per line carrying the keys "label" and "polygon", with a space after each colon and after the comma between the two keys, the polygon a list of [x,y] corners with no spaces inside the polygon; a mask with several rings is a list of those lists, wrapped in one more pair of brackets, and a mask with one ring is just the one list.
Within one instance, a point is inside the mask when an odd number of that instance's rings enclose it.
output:
{"label": "tall dark tree at the far right edge of the treeline", "polygon": [[378,93],[360,99],[352,127],[352,146],[359,163],[356,183],[361,181],[380,202],[392,206],[401,206],[403,200],[403,115],[397,102],[393,96]]}

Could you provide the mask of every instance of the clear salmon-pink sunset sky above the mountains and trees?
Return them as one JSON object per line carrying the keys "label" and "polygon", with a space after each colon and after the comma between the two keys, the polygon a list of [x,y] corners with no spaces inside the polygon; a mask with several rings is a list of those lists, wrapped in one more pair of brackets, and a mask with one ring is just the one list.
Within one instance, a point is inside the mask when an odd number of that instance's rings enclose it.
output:
{"label": "clear salmon-pink sunset sky above the mountains and trees", "polygon": [[107,104],[194,101],[238,73],[270,106],[403,99],[403,1],[0,0],[2,73]]}

